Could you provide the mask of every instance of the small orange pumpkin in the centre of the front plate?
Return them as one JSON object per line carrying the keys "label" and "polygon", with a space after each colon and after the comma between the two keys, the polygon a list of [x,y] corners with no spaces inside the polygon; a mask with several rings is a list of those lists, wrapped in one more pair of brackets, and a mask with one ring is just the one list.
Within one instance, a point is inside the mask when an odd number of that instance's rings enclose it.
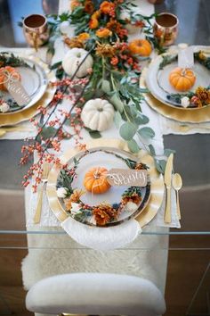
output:
{"label": "small orange pumpkin in the centre of the front plate", "polygon": [[109,190],[107,180],[108,170],[103,167],[95,167],[87,171],[84,179],[85,189],[93,194],[99,195]]}

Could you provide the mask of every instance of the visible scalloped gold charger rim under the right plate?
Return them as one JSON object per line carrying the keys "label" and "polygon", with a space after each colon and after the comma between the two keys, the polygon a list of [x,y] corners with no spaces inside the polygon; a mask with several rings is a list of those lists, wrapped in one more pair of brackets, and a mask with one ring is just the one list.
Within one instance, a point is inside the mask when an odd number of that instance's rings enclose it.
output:
{"label": "visible scalloped gold charger rim under the right plate", "polygon": [[[140,87],[146,88],[147,68],[141,72]],[[169,106],[156,99],[150,93],[145,93],[144,98],[149,106],[156,112],[166,116],[169,119],[188,123],[204,123],[210,121],[210,106],[199,109],[184,109]]]}

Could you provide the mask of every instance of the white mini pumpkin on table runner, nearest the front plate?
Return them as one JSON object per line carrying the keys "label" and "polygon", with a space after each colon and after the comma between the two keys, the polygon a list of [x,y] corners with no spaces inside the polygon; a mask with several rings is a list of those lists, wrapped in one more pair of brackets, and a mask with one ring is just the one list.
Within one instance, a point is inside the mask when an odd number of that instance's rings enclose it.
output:
{"label": "white mini pumpkin on table runner, nearest the front plate", "polygon": [[106,130],[111,126],[115,115],[112,104],[100,98],[89,100],[85,103],[81,119],[86,128],[93,130]]}

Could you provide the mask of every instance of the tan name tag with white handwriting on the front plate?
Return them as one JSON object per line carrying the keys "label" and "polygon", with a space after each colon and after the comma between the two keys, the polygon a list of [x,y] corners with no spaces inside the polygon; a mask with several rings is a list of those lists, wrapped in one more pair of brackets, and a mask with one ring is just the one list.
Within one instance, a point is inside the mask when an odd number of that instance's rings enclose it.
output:
{"label": "tan name tag with white handwriting on the front plate", "polygon": [[107,180],[111,186],[146,187],[147,170],[111,169]]}

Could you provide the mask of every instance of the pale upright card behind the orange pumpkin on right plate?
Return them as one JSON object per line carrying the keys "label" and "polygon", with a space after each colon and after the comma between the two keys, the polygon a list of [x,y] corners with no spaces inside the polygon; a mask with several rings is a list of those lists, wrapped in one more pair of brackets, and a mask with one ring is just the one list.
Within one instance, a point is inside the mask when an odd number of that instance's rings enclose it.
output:
{"label": "pale upright card behind the orange pumpkin on right plate", "polygon": [[180,68],[194,67],[194,54],[192,46],[179,46],[178,66]]}

